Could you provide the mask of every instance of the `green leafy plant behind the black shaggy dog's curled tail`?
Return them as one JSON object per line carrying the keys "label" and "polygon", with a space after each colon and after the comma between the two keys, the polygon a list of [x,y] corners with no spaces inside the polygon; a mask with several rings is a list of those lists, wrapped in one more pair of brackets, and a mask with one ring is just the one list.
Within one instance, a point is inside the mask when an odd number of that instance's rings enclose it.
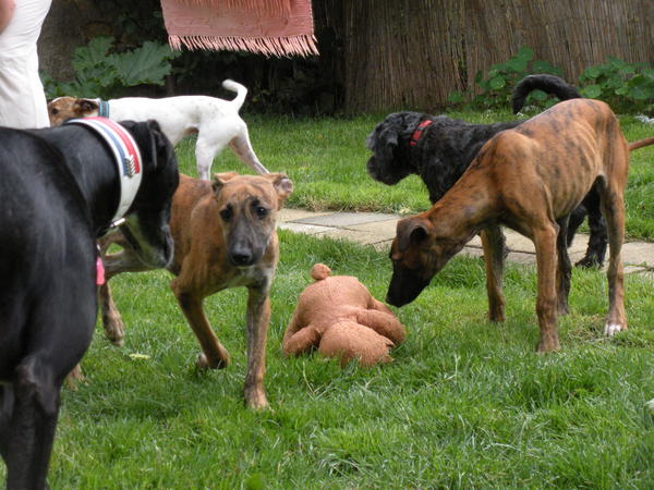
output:
{"label": "green leafy plant behind the black shaggy dog's curled tail", "polygon": [[[474,82],[483,91],[472,98],[472,107],[506,108],[509,105],[513,86],[524,76],[532,73],[562,75],[564,72],[560,68],[554,66],[548,61],[534,60],[533,58],[534,50],[523,46],[507,62],[491,65],[486,75],[480,70],[474,77]],[[448,100],[450,103],[461,103],[469,98],[469,94],[455,91],[450,94]],[[530,98],[538,102],[545,102],[548,96],[542,90],[534,90]]]}

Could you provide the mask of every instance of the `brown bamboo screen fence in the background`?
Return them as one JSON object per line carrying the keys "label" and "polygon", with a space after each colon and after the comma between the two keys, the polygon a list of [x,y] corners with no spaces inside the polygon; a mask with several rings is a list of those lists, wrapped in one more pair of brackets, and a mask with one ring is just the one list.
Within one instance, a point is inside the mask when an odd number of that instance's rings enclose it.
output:
{"label": "brown bamboo screen fence in the background", "polygon": [[572,84],[608,56],[654,64],[654,0],[324,1],[350,112],[435,110],[521,46]]}

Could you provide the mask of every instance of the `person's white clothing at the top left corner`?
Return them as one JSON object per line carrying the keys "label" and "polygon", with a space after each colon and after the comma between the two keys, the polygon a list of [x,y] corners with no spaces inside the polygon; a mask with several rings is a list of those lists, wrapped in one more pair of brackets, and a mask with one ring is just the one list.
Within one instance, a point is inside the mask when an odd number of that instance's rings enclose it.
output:
{"label": "person's white clothing at the top left corner", "polygon": [[50,125],[36,41],[51,1],[16,0],[13,17],[0,34],[0,126]]}

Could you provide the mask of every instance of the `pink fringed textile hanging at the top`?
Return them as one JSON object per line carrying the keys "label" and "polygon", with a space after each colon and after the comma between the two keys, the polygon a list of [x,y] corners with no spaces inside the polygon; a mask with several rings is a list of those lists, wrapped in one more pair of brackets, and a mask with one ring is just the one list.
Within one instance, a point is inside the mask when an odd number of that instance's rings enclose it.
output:
{"label": "pink fringed textile hanging at the top", "polygon": [[311,0],[161,0],[172,49],[318,54]]}

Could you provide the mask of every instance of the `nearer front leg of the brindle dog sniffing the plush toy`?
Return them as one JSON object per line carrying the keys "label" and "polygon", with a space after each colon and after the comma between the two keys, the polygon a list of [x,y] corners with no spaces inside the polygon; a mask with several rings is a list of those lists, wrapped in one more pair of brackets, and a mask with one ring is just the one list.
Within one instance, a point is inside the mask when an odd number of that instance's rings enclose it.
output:
{"label": "nearer front leg of the brindle dog sniffing the plush toy", "polygon": [[538,274],[538,297],[536,299],[536,314],[541,339],[536,352],[545,353],[560,348],[557,327],[557,234],[555,223],[534,230],[533,241],[536,246],[536,262]]}

